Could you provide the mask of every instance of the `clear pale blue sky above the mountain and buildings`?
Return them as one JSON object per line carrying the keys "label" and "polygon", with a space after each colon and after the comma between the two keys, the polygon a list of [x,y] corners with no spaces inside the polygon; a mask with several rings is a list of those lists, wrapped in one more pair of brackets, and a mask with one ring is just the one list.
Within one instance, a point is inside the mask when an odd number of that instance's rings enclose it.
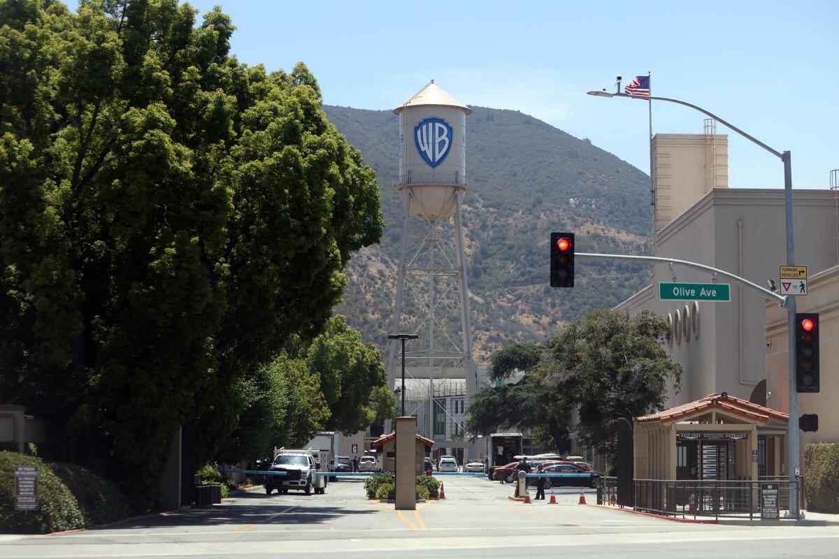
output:
{"label": "clear pale blue sky above the mountain and buildings", "polygon": [[[533,115],[649,172],[645,102],[586,96],[652,72],[654,96],[702,106],[792,152],[795,188],[839,168],[839,2],[279,2],[210,0],[248,64],[303,61],[329,105],[383,110],[435,79],[469,105]],[[653,103],[653,132],[705,116]],[[468,126],[468,120],[466,121]],[[781,188],[783,166],[729,133],[729,184]]]}

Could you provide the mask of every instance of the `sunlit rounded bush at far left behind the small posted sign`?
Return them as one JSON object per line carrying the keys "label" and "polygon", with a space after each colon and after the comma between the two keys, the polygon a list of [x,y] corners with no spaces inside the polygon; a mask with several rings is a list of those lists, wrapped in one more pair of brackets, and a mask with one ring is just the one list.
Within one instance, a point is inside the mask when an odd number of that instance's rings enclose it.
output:
{"label": "sunlit rounded bush at far left behind the small posted sign", "polygon": [[[14,467],[38,466],[38,510],[14,510]],[[43,460],[0,452],[0,533],[47,534],[85,526],[79,502]]]}

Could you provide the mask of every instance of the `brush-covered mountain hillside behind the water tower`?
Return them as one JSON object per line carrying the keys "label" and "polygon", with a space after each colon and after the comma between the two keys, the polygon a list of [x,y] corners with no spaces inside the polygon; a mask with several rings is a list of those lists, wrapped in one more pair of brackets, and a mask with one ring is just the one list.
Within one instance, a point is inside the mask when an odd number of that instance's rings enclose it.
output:
{"label": "brush-covered mountain hillside behind the water tower", "polygon": [[[550,231],[576,232],[578,252],[645,254],[651,216],[649,176],[638,168],[519,111],[471,108],[466,173],[473,186],[463,213],[480,364],[502,344],[545,339],[560,322],[614,306],[647,285],[645,265],[577,258],[576,286],[551,288]],[[324,110],[376,170],[387,223],[381,245],[353,256],[336,312],[383,348],[399,263],[398,117],[341,106]]]}

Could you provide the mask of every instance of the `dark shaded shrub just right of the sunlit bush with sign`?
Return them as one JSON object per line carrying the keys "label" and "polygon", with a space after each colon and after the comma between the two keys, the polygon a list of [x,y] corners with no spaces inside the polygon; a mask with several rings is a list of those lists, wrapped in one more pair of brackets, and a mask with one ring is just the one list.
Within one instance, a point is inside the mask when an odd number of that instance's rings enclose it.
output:
{"label": "dark shaded shrub just right of the sunlit bush with sign", "polygon": [[134,512],[116,484],[89,469],[65,462],[50,463],[50,468],[76,497],[86,527],[122,520]]}

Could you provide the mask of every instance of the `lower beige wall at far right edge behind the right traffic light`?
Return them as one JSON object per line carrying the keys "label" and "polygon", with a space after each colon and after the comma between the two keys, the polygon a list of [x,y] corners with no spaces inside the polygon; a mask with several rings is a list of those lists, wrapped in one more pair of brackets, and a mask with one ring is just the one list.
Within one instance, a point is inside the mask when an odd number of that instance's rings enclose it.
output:
{"label": "lower beige wall at far right edge behind the right traffic light", "polygon": [[[839,266],[817,274],[808,269],[808,273],[807,296],[799,297],[796,304],[800,313],[819,313],[820,391],[799,394],[798,408],[800,414],[818,414],[819,430],[800,432],[801,456],[810,443],[839,443]],[[765,311],[766,403],[789,411],[787,312],[774,304],[767,304]]]}

